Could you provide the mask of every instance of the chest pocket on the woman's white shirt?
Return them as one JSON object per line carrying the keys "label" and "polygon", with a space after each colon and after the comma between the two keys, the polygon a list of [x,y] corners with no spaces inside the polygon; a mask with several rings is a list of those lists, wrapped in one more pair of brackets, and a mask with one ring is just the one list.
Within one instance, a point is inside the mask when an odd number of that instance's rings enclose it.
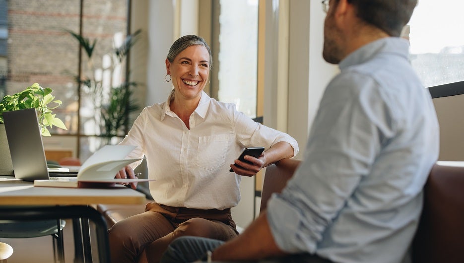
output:
{"label": "chest pocket on the woman's white shirt", "polygon": [[197,166],[212,170],[223,166],[229,150],[231,134],[200,136],[197,150]]}

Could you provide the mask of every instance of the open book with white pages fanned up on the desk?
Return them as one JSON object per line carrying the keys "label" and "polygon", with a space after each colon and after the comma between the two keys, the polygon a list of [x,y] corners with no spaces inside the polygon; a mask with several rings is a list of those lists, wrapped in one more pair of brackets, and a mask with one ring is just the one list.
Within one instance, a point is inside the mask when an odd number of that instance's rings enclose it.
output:
{"label": "open book with white pages fanned up on the desk", "polygon": [[126,165],[142,159],[125,159],[135,147],[136,146],[133,145],[105,145],[82,164],[77,173],[77,177],[57,177],[48,180],[34,180],[34,186],[91,188],[114,186],[116,183],[152,181],[138,178],[115,178],[118,171]]}

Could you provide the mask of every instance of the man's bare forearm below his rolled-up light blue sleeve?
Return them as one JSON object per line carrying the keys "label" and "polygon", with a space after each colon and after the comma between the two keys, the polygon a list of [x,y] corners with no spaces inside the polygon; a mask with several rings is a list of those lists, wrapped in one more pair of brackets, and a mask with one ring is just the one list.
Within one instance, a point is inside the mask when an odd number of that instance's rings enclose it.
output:
{"label": "man's bare forearm below his rolled-up light blue sleeve", "polygon": [[212,260],[257,260],[287,255],[277,247],[266,214],[262,212],[240,236],[215,249]]}

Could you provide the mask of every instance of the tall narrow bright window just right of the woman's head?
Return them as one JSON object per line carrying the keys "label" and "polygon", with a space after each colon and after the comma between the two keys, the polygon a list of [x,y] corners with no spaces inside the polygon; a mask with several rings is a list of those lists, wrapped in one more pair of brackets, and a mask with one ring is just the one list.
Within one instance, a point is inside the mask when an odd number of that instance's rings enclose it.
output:
{"label": "tall narrow bright window just right of the woman's head", "polygon": [[258,0],[215,1],[213,22],[212,87],[217,99],[237,105],[237,109],[256,118],[258,65]]}

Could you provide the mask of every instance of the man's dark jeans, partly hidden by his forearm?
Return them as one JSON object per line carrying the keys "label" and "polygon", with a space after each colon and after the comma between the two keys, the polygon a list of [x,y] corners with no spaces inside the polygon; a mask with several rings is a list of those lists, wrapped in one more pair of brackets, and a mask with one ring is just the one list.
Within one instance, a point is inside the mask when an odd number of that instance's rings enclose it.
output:
{"label": "man's dark jeans, partly hidden by his forearm", "polygon": [[[201,237],[179,237],[169,245],[161,258],[161,263],[191,263],[202,260],[206,262],[206,252],[213,251],[224,242]],[[258,261],[213,261],[213,263],[331,263],[311,254],[297,254],[281,258]]]}

